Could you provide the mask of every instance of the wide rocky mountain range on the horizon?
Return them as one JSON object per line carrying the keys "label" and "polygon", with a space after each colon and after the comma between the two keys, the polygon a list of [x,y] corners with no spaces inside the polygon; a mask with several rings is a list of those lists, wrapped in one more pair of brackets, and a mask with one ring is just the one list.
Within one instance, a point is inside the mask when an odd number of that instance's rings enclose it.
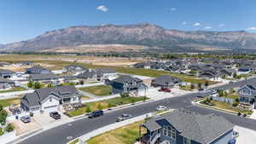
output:
{"label": "wide rocky mountain range on the horizon", "polygon": [[[183,32],[148,23],[137,25],[72,26],[38,37],[9,43],[1,51],[38,51],[76,47],[84,44],[129,44],[163,49],[217,48],[256,49],[256,34],[234,32]],[[84,48],[85,49],[85,48]]]}

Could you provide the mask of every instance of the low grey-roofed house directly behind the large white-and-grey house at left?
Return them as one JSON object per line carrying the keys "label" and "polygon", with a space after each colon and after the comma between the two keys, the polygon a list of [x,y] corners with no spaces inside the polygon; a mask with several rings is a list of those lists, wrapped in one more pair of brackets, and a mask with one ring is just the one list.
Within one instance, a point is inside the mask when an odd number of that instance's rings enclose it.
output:
{"label": "low grey-roofed house directly behind the large white-and-grey house at left", "polygon": [[32,82],[41,82],[44,84],[52,83],[58,85],[60,83],[59,76],[54,73],[41,73],[41,74],[32,74],[29,76],[29,80]]}

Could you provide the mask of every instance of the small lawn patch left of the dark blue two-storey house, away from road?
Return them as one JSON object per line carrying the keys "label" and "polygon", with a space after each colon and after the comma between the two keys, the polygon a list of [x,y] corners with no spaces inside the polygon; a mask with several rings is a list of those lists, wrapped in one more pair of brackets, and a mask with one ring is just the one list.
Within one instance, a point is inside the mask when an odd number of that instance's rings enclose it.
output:
{"label": "small lawn patch left of the dark blue two-storey house, away from road", "polygon": [[98,96],[111,95],[112,93],[112,88],[108,85],[84,87],[84,88],[80,88],[80,90],[88,92],[93,95],[98,95]]}

